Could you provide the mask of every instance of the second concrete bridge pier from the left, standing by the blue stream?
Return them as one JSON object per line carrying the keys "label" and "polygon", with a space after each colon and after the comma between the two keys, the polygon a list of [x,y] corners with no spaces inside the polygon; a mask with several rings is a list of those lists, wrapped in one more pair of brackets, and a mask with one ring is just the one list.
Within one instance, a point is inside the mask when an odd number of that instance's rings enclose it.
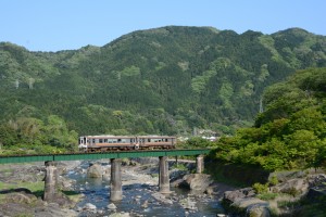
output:
{"label": "second concrete bridge pier from the left, standing by the blue stream", "polygon": [[111,201],[122,200],[121,159],[111,158]]}

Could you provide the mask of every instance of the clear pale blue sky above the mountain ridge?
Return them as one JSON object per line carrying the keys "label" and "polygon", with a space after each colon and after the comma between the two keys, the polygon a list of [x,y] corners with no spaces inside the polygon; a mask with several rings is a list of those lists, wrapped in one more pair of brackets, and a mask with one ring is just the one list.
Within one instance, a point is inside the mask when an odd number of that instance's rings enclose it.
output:
{"label": "clear pale blue sky above the mountain ridge", "polygon": [[0,41],[32,51],[104,46],[167,25],[326,36],[326,0],[0,0]]}

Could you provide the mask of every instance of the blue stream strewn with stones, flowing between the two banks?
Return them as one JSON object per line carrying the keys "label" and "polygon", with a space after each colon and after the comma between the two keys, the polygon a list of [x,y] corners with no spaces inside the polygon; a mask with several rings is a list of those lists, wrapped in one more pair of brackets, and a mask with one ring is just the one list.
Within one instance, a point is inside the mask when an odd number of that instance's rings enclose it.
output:
{"label": "blue stream strewn with stones, flowing between the two banks", "polygon": [[[77,204],[79,216],[199,217],[216,216],[216,214],[224,213],[218,203],[218,195],[206,194],[204,190],[190,191],[172,188],[171,194],[159,193],[158,162],[155,159],[150,161],[154,162],[125,163],[127,165],[122,167],[123,200],[114,203],[109,200],[108,175],[110,174],[110,165],[105,162],[92,162],[93,165],[87,169],[88,165],[83,164],[77,169],[82,171],[82,176],[78,173],[71,174],[71,177],[77,180],[76,189],[85,194],[85,199]],[[172,169],[170,173],[172,180],[178,180],[187,174],[187,171],[179,169]],[[89,176],[97,178],[89,179]],[[198,181],[200,182],[200,179]]]}

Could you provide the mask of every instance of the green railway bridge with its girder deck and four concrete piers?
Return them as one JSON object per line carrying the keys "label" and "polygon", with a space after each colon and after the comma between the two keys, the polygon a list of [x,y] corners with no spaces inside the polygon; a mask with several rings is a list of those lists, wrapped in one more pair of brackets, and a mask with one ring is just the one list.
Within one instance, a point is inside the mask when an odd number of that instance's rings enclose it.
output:
{"label": "green railway bridge with its girder deck and four concrete piers", "polygon": [[168,177],[168,156],[196,156],[196,173],[203,171],[203,155],[210,150],[151,150],[151,151],[117,151],[100,153],[67,153],[67,154],[47,154],[47,155],[22,155],[22,156],[0,156],[0,164],[45,162],[45,201],[52,201],[57,194],[57,167],[55,162],[60,161],[83,161],[83,159],[103,159],[110,158],[111,162],[111,188],[110,200],[122,200],[122,158],[129,157],[159,157],[159,189],[161,193],[170,193]]}

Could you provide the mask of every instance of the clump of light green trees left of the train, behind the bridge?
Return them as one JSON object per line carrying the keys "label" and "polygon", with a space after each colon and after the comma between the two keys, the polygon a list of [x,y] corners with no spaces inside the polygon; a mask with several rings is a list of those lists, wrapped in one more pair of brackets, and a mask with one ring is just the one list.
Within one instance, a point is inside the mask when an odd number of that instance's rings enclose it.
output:
{"label": "clump of light green trees left of the train, behind the bridge", "polygon": [[3,155],[62,153],[77,146],[77,132],[68,131],[65,122],[55,115],[45,122],[18,117],[0,125],[0,129]]}

